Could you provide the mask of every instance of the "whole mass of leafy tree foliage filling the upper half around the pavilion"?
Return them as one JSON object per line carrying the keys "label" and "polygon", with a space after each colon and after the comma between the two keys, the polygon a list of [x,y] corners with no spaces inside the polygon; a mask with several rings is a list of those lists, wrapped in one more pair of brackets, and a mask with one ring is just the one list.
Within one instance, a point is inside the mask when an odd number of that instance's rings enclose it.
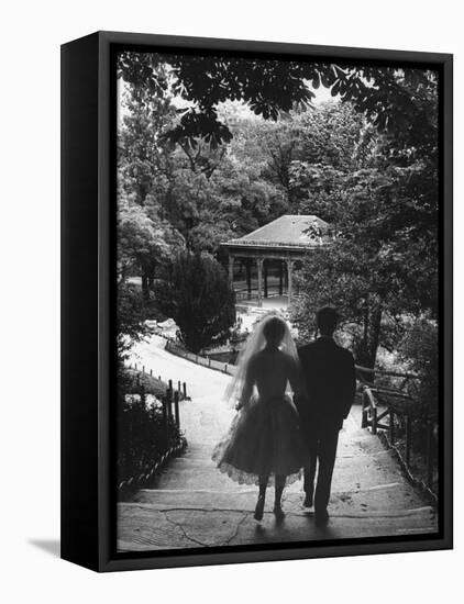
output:
{"label": "whole mass of leafy tree foliage filling the upper half around the pavilion", "polygon": [[[406,315],[437,316],[437,74],[139,53],[119,74],[121,275],[140,273],[152,303],[174,316],[164,267],[179,251],[223,262],[221,242],[297,213],[336,235],[299,275],[301,334],[335,304],[372,366]],[[342,102],[311,107],[320,86]]]}

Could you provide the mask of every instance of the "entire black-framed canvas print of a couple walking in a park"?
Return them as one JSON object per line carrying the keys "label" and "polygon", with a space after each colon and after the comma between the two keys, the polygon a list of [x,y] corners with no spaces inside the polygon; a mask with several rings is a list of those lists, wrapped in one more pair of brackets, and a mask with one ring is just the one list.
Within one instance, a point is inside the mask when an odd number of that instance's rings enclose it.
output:
{"label": "entire black-framed canvas print of a couple walking in a park", "polygon": [[62,47],[62,556],[452,547],[452,56]]}

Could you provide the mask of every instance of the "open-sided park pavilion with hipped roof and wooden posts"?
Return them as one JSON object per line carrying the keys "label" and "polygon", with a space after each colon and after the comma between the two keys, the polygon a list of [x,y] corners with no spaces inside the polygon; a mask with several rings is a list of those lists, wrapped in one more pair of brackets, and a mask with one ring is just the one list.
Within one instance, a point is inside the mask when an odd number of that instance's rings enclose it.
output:
{"label": "open-sided park pavilion with hipped roof and wooden posts", "polygon": [[[290,304],[295,267],[332,241],[330,224],[319,216],[285,214],[239,239],[222,243],[229,255],[229,280],[237,302],[257,299],[257,305],[262,306],[263,298],[283,297],[286,291]],[[240,265],[239,275],[235,260]]]}

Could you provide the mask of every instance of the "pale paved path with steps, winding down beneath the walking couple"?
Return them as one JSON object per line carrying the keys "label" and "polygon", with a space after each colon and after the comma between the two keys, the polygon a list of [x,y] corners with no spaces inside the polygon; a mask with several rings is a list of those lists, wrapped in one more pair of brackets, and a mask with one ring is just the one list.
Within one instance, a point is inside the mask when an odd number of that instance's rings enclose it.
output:
{"label": "pale paved path with steps, winding down beneath the walking couple", "polygon": [[228,376],[174,357],[158,337],[141,344],[133,360],[164,379],[186,381],[191,401],[180,403],[187,452],[169,462],[156,489],[119,504],[120,551],[314,541],[437,532],[434,511],[406,481],[391,451],[358,429],[353,414],[341,433],[330,502],[330,522],[318,528],[302,507],[301,483],[286,489],[286,517],[277,523],[268,491],[262,523],[253,519],[256,488],[221,474],[211,451],[233,411],[221,400]]}

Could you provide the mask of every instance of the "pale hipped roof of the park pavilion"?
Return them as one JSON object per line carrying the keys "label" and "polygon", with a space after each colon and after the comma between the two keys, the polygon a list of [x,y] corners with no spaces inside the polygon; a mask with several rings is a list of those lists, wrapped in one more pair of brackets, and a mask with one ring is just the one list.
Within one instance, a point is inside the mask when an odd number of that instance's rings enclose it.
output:
{"label": "pale hipped roof of the park pavilion", "polygon": [[329,231],[330,224],[319,216],[285,214],[243,237],[230,239],[222,245],[313,248],[323,245]]}

